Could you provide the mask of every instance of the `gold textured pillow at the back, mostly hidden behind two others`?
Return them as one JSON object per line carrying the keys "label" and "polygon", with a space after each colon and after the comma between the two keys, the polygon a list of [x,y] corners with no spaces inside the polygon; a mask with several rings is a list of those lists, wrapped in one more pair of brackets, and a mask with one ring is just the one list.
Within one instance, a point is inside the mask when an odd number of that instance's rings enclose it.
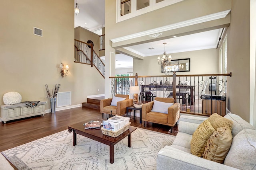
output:
{"label": "gold textured pillow at the back, mostly hidden behind two others", "polygon": [[228,126],[230,130],[232,130],[233,127],[233,121],[227,118],[222,117],[221,115],[218,115],[217,113],[212,114],[208,121],[211,123],[212,127],[217,130],[218,127],[224,127]]}

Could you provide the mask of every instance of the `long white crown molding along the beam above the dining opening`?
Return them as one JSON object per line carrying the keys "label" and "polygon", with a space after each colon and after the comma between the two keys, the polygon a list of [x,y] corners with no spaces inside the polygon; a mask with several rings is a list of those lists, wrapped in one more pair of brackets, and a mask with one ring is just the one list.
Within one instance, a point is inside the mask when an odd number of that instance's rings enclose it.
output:
{"label": "long white crown molding along the beam above the dining opening", "polygon": [[164,32],[164,31],[169,31],[169,30],[172,30],[172,29],[186,27],[186,26],[190,26],[190,25],[194,25],[194,24],[198,24],[198,23],[203,23],[203,22],[212,21],[212,20],[218,20],[220,18],[225,18],[228,15],[229,12],[230,12],[230,10],[217,12],[217,13],[214,13],[214,14],[194,18],[194,19],[191,19],[191,20],[186,20],[186,21],[166,25],[166,26],[163,26],[163,27],[150,29],[150,30],[147,30],[147,31],[142,31],[142,32],[139,32],[139,33],[126,35],[126,36],[123,36],[123,37],[110,39],[110,41],[112,41],[113,43],[117,43],[117,42],[120,42],[120,41],[126,41],[126,40],[129,40],[129,39],[142,37],[142,36],[145,36],[145,35],[157,34],[157,33],[161,33],[161,32]]}

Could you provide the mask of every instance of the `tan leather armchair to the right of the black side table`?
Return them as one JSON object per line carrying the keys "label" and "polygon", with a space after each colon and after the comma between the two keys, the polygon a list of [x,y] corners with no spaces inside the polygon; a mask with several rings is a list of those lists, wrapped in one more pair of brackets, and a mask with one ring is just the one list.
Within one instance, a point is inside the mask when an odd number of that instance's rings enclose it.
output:
{"label": "tan leather armchair to the right of the black side table", "polygon": [[[174,98],[156,97],[155,100],[159,102],[174,103]],[[153,105],[154,101],[142,105],[142,121],[144,121],[144,127],[146,125],[146,121],[168,125],[171,127],[172,133],[172,127],[175,126],[180,117],[180,104],[174,103],[172,106],[168,107],[168,114],[151,111]]]}

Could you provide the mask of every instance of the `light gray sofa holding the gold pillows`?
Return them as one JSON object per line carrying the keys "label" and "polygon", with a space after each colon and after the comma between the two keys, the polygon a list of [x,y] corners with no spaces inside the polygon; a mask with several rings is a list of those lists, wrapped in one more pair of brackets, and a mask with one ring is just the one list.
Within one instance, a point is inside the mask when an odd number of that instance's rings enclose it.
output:
{"label": "light gray sofa holding the gold pillows", "polygon": [[157,154],[157,169],[214,169],[214,170],[256,170],[256,128],[238,115],[228,113],[227,119],[233,121],[232,144],[220,164],[192,155],[190,140],[200,123],[207,118],[181,115],[178,134],[171,146],[165,146]]}

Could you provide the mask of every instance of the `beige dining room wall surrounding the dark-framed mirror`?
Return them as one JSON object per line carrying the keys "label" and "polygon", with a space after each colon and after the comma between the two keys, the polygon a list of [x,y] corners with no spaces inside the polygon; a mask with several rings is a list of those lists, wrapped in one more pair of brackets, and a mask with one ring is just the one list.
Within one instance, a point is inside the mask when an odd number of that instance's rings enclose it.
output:
{"label": "beige dining room wall surrounding the dark-framed mirror", "polygon": [[[182,74],[217,74],[218,73],[218,50],[206,49],[172,53],[172,59],[190,58],[190,72],[177,72]],[[161,65],[158,66],[157,56],[144,57],[144,60],[133,60],[133,72],[139,76],[165,75],[161,72]]]}

